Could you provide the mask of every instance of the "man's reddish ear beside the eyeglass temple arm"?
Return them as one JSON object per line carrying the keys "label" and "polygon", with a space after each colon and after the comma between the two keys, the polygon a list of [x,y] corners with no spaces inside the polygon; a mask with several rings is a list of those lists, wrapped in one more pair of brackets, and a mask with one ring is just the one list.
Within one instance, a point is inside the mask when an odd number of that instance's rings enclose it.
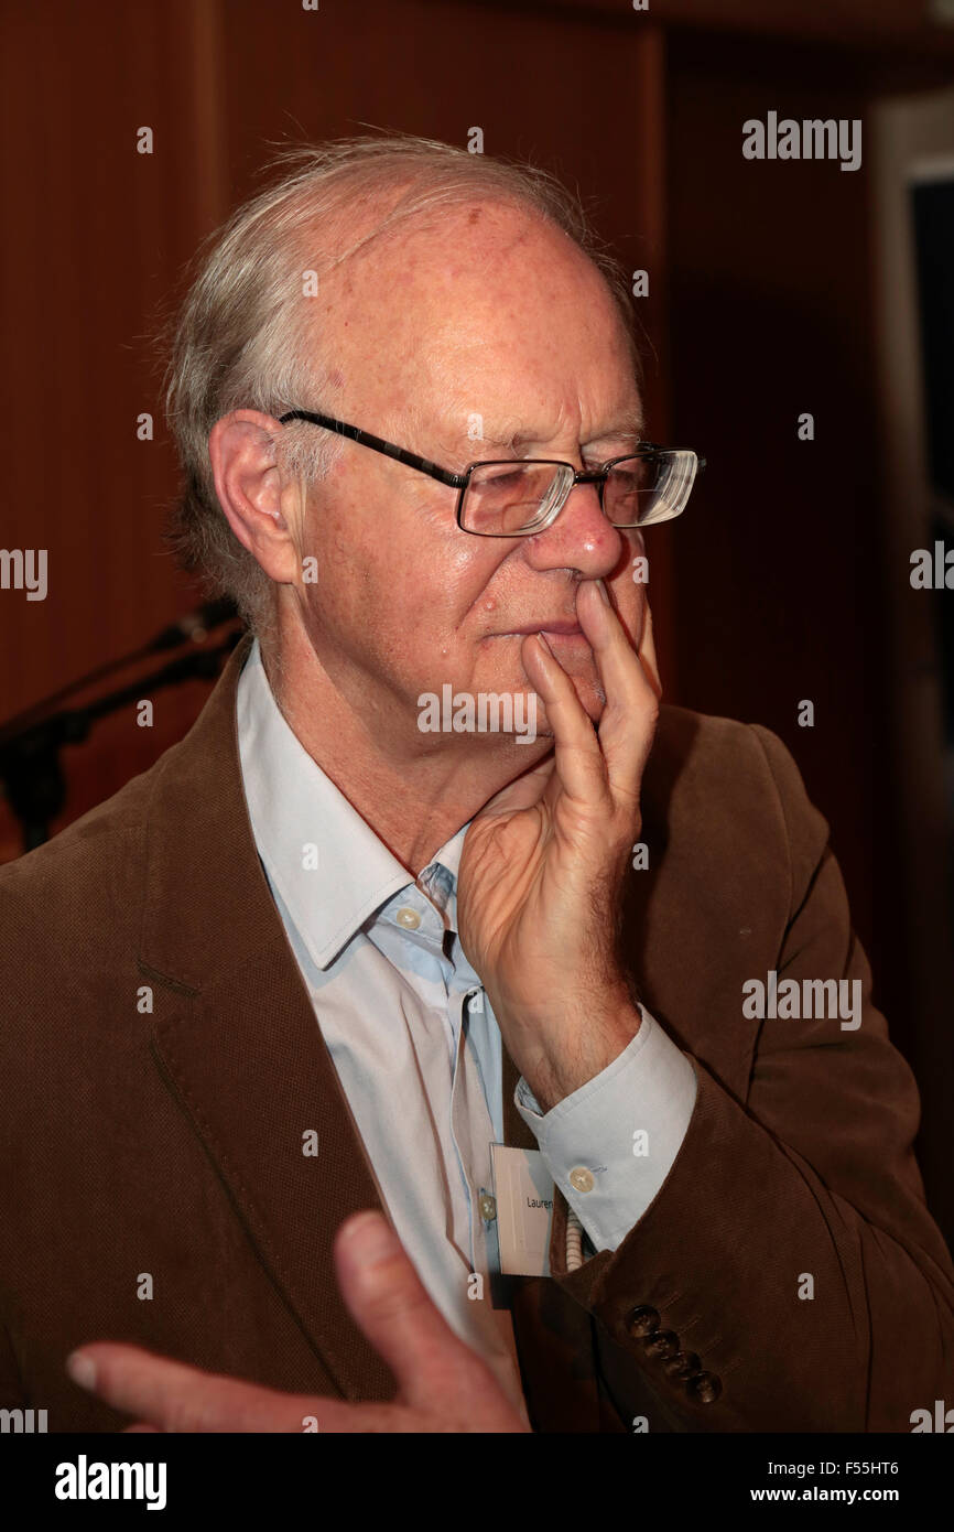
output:
{"label": "man's reddish ear beside the eyeglass temple arm", "polygon": [[294,582],[300,559],[300,529],[289,525],[299,496],[282,495],[274,435],[282,429],[273,415],[234,409],[208,434],[208,457],[216,495],[228,525],[265,573],[279,584]]}

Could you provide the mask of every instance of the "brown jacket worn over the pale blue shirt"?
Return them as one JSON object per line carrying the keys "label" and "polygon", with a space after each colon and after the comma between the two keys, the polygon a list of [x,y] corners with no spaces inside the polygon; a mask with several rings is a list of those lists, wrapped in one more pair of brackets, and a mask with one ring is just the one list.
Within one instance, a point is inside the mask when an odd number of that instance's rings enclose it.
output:
{"label": "brown jacket worn over the pale blue shirt", "polygon": [[[152,771],[0,869],[0,1408],[51,1431],[129,1423],[63,1371],[100,1339],[394,1394],[332,1273],[381,1204],[251,835],[247,653]],[[825,821],[775,735],[668,706],[643,817],[625,950],[698,1098],[616,1252],[567,1275],[557,1190],[554,1275],[510,1281],[534,1429],[910,1431],[954,1403],[954,1270]],[[861,1026],[746,1017],[773,970],[859,979]],[[504,1054],[534,1147],[515,1085]]]}

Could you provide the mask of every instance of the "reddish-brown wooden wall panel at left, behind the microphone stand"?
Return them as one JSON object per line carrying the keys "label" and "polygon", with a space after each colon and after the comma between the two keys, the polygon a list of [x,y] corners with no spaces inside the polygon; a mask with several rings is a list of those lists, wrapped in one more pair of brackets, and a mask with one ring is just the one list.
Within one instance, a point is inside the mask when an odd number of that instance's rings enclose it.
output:
{"label": "reddish-brown wooden wall panel at left, behind the microphone stand", "polygon": [[[159,538],[175,464],[149,336],[182,262],[227,211],[216,17],[208,0],[3,11],[0,542],[47,550],[49,593],[0,591],[0,719],[196,601]],[[142,126],[153,155],[136,153]],[[136,440],[142,411],[156,417],[152,443]],[[165,692],[152,731],[127,711],[70,748],[57,823],[181,737],[207,691]],[[0,856],[15,850],[5,812]]]}

